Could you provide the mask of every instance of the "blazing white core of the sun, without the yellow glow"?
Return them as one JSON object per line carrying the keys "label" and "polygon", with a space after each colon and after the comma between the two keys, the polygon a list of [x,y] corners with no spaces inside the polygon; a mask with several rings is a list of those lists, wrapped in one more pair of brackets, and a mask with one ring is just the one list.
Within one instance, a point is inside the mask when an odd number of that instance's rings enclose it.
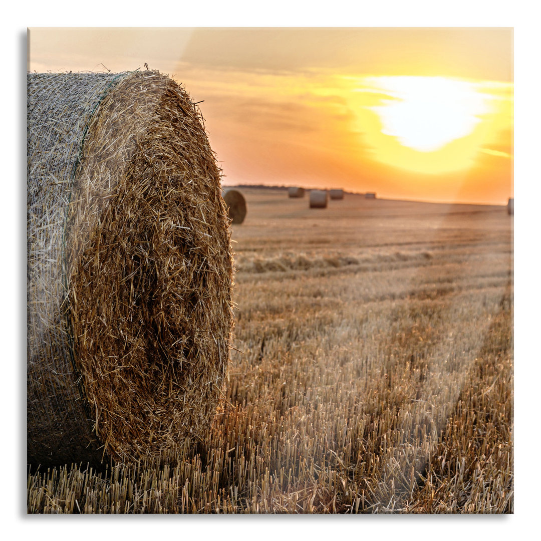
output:
{"label": "blazing white core of the sun, without the yellow glow", "polygon": [[382,133],[421,152],[437,150],[469,135],[487,113],[483,94],[467,81],[445,77],[368,78],[391,96],[371,107],[382,123]]}

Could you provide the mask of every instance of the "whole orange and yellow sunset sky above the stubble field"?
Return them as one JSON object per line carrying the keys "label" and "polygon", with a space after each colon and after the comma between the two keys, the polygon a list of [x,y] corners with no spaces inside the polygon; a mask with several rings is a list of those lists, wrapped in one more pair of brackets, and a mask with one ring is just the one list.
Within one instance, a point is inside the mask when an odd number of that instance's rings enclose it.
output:
{"label": "whole orange and yellow sunset sky above the stubble field", "polygon": [[30,28],[31,71],[159,69],[223,184],[513,196],[512,28]]}

